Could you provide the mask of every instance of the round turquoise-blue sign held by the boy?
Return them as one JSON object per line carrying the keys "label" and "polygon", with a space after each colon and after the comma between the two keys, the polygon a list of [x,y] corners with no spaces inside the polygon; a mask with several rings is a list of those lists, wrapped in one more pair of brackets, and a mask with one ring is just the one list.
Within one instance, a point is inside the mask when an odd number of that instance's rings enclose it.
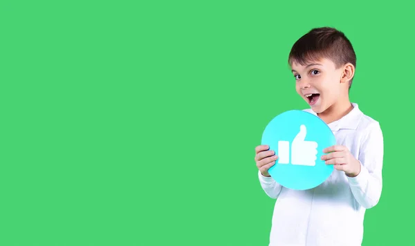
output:
{"label": "round turquoise-blue sign held by the boy", "polygon": [[[295,164],[293,164],[293,140],[299,134],[301,128],[303,131],[306,130],[304,131],[306,135],[305,138],[299,136],[299,141],[295,142],[295,146],[303,146],[304,148],[295,147],[295,150],[299,151],[294,153]],[[304,137],[304,134],[302,136]],[[301,140],[308,144],[297,144],[302,142]],[[279,145],[279,141],[283,142],[280,142]],[[317,147],[314,149],[315,152],[313,152],[314,165],[310,161],[304,161],[305,164],[298,161],[299,158],[309,157],[311,152],[306,152],[304,149],[313,149],[312,147],[305,147],[314,146],[310,142],[317,143]],[[331,129],[324,121],[312,113],[299,110],[286,111],[277,115],[266,126],[261,140],[261,144],[270,146],[270,150],[275,151],[275,154],[279,156],[273,167],[268,169],[270,176],[283,187],[297,190],[317,187],[333,173],[333,165],[326,164],[324,160],[321,160],[321,156],[325,154],[323,149],[335,145],[335,142]],[[279,146],[280,149],[278,149]],[[287,146],[289,149],[288,155]],[[308,153],[308,155],[304,153]],[[316,154],[314,155],[314,153]],[[311,158],[307,158],[304,160],[311,160]]]}

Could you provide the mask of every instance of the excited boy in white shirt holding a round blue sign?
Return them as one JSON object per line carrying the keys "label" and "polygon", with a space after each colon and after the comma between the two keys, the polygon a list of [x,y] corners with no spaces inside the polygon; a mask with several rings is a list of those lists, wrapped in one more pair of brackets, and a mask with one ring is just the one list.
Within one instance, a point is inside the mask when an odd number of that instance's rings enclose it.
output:
{"label": "excited boy in white shirt holding a round blue sign", "polygon": [[261,187],[277,199],[269,245],[361,245],[365,210],[378,203],[382,191],[383,137],[379,123],[349,100],[353,47],[339,30],[314,28],[295,42],[288,63],[297,93],[311,106],[304,111],[320,117],[335,135],[337,144],[322,155],[335,169],[314,189],[287,189],[268,173],[278,159],[275,150],[255,148]]}

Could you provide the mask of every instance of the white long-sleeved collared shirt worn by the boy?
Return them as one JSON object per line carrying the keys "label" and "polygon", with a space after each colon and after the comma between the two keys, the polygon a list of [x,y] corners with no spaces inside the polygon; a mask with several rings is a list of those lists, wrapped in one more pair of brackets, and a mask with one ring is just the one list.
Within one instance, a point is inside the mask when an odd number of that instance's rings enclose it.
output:
{"label": "white long-sleeved collared shirt worn by the boy", "polygon": [[[311,109],[305,109],[316,115]],[[366,209],[382,191],[383,136],[379,123],[353,103],[353,110],[329,124],[337,144],[360,161],[358,176],[335,170],[314,189],[297,191],[259,172],[259,182],[276,198],[269,246],[360,246]]]}

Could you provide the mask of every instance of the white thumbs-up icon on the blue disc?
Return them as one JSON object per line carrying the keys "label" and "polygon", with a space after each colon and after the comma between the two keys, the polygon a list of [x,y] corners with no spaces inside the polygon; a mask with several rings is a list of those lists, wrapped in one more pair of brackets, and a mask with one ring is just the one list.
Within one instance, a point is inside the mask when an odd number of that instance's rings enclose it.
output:
{"label": "white thumbs-up icon on the blue disc", "polygon": [[[291,164],[315,166],[317,160],[317,142],[304,141],[307,129],[304,124],[299,126],[299,133],[295,136],[291,144]],[[278,141],[278,163],[288,164],[290,156],[290,142]]]}

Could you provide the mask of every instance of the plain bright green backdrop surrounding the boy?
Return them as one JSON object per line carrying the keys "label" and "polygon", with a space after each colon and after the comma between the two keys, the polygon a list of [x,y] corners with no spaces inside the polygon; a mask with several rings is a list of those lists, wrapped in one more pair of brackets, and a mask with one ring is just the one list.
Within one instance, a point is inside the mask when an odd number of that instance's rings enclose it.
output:
{"label": "plain bright green backdrop surrounding the boy", "polygon": [[275,200],[254,148],[273,117],[307,107],[287,57],[319,26],[351,39],[351,100],[384,133],[363,245],[412,241],[413,10],[0,1],[0,245],[268,245]]}

